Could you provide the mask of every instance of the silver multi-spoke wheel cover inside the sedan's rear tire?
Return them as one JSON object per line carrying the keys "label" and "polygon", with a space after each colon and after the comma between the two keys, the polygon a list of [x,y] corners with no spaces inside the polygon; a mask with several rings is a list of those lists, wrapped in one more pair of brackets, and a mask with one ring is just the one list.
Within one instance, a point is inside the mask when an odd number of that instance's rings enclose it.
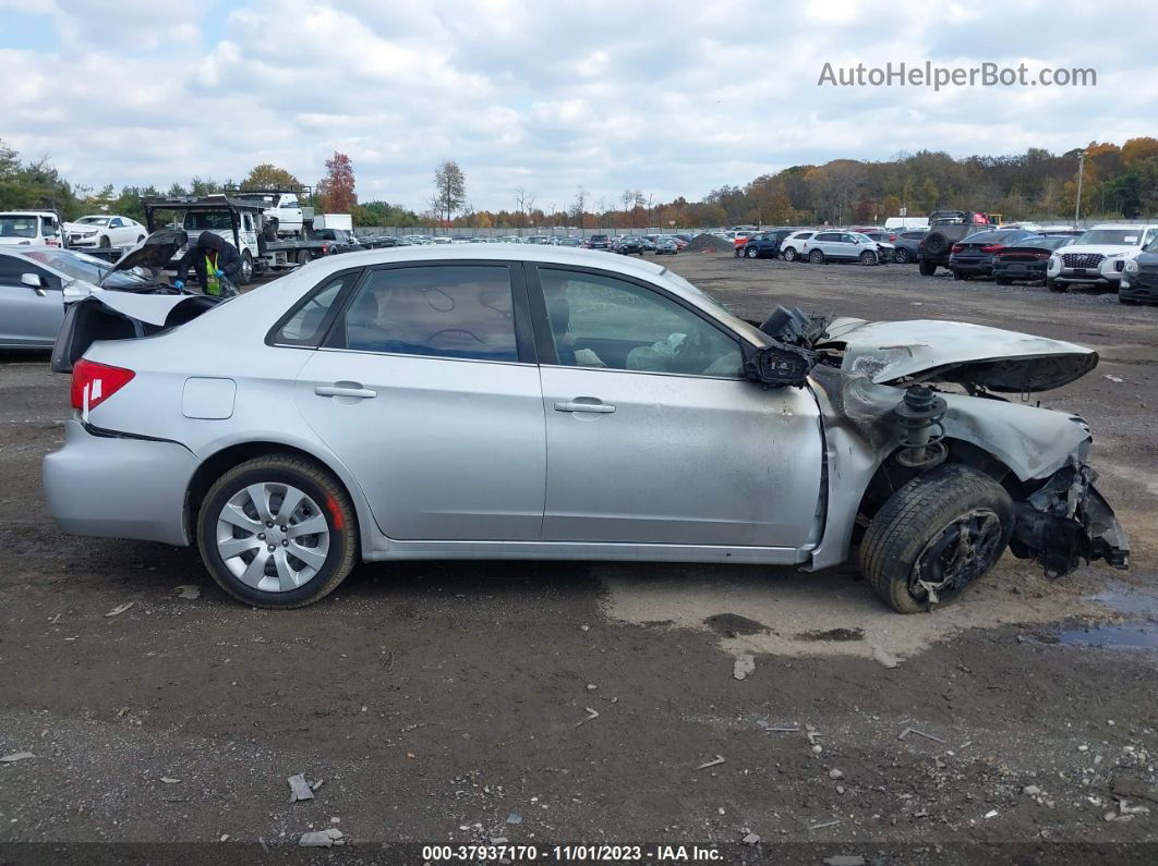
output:
{"label": "silver multi-spoke wheel cover inside the sedan's rear tire", "polygon": [[218,553],[229,573],[262,592],[290,592],[317,576],[330,553],[330,525],[296,487],[242,488],[218,515]]}

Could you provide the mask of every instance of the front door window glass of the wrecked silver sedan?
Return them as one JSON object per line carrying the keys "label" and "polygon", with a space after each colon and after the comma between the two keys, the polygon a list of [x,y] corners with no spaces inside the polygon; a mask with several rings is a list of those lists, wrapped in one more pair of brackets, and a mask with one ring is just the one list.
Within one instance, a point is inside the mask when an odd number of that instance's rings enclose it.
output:
{"label": "front door window glass of the wrecked silver sedan", "polygon": [[742,377],[739,342],[659,291],[602,274],[538,273],[559,364]]}

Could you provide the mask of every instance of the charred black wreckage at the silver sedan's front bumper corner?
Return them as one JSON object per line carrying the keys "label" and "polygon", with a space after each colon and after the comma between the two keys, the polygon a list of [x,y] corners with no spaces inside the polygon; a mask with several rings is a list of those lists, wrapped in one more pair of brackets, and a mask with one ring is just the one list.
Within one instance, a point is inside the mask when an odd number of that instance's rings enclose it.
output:
{"label": "charred black wreckage at the silver sedan's front bumper corner", "polygon": [[1016,504],[1010,550],[1036,560],[1050,578],[1064,577],[1082,560],[1129,568],[1130,540],[1114,510],[1093,486],[1098,473],[1078,454]]}

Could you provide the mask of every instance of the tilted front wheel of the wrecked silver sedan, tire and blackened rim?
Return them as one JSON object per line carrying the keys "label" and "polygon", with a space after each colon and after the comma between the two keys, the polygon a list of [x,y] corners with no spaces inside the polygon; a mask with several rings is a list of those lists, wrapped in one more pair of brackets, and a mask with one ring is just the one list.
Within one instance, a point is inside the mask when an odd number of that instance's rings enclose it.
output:
{"label": "tilted front wheel of the wrecked silver sedan, tire and blackened rim", "polygon": [[1012,533],[1013,501],[1001,484],[943,466],[904,484],[873,516],[860,571],[894,610],[930,610],[985,575]]}

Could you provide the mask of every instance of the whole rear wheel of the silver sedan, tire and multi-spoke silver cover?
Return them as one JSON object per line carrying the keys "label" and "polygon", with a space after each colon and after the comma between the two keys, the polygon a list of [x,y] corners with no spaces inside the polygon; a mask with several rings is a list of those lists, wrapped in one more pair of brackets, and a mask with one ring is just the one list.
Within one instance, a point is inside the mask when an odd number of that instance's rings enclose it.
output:
{"label": "whole rear wheel of the silver sedan, tire and multi-spoke silver cover", "polygon": [[328,471],[292,454],[226,472],[201,501],[197,543],[222,590],[247,605],[293,608],[334,591],[358,556],[358,517]]}

